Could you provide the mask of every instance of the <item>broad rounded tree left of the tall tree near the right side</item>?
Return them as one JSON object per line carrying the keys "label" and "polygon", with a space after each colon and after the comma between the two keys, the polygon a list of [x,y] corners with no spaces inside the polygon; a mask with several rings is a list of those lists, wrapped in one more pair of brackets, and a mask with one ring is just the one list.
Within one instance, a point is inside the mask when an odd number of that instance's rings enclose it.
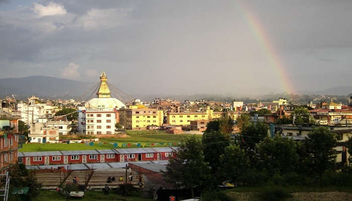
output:
{"label": "broad rounded tree left of the tall tree near the right side", "polygon": [[257,144],[260,167],[265,168],[273,176],[275,173],[293,172],[298,164],[297,146],[295,141],[276,135],[267,137]]}

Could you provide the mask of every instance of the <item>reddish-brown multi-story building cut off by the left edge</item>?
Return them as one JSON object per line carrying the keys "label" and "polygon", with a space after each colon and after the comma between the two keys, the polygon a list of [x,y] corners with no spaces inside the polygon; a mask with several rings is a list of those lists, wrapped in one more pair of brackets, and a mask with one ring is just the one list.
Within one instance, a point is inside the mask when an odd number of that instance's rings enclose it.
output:
{"label": "reddish-brown multi-story building cut off by the left edge", "polygon": [[0,173],[18,160],[18,117],[0,111]]}

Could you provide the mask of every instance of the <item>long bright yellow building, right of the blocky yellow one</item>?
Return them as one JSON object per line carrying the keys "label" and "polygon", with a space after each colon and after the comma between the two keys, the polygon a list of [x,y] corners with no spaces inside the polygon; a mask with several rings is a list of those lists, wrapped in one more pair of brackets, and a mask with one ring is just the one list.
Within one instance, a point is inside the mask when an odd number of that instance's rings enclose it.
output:
{"label": "long bright yellow building, right of the blocky yellow one", "polygon": [[229,116],[233,120],[236,120],[238,116],[238,112],[236,113],[214,112],[214,110],[211,110],[208,107],[206,112],[203,112],[203,113],[167,113],[166,119],[167,119],[167,124],[170,124],[170,125],[188,126],[188,125],[191,125],[191,121],[201,121],[201,120],[211,121],[225,116]]}

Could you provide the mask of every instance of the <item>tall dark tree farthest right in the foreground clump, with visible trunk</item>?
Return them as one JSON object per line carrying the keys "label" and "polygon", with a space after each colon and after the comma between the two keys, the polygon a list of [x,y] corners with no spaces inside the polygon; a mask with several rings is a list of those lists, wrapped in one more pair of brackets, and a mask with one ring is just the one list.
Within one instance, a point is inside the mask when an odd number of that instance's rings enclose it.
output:
{"label": "tall dark tree farthest right in the foreground clump, with visible trunk", "polygon": [[304,141],[307,152],[306,162],[311,174],[317,174],[321,184],[322,174],[335,165],[336,152],[333,148],[337,140],[327,127],[316,127]]}

